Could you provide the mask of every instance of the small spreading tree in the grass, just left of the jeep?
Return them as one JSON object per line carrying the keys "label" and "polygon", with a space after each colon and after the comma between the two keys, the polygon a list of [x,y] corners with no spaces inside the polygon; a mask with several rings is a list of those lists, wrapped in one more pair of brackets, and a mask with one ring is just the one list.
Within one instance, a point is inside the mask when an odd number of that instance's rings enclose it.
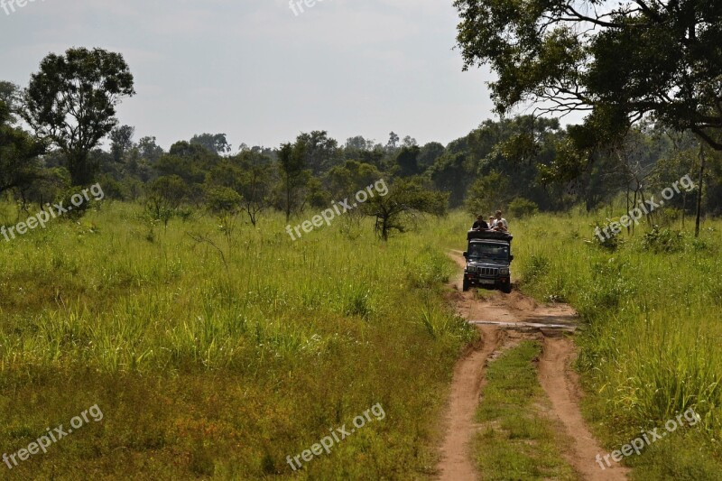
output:
{"label": "small spreading tree in the grass, just left of the jeep", "polygon": [[398,179],[385,196],[375,195],[362,208],[375,217],[376,234],[384,241],[393,231],[408,230],[415,217],[424,213],[443,216],[449,204],[449,194],[430,190],[421,177]]}

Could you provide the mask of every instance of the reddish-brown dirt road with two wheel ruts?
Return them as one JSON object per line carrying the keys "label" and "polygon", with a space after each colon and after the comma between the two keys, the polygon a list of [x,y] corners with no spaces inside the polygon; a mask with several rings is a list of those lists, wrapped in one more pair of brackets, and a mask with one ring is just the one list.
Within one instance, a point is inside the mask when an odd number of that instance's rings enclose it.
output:
{"label": "reddish-brown dirt road with two wheel ruts", "polygon": [[[449,254],[463,268],[464,258],[458,251]],[[478,299],[473,291],[461,291],[461,275],[451,282],[451,294],[460,316],[476,324],[482,341],[458,361],[451,385],[446,414],[446,435],[438,465],[441,480],[483,479],[477,473],[470,441],[477,431],[474,414],[483,396],[486,364],[490,359],[523,339],[542,342],[539,380],[551,401],[551,417],[571,440],[563,455],[582,479],[615,481],[626,479],[623,467],[602,471],[595,457],[606,454],[589,432],[579,411],[579,380],[571,368],[576,356],[570,336],[577,327],[577,314],[566,304],[541,305],[518,291],[503,294],[495,291],[487,299]]]}

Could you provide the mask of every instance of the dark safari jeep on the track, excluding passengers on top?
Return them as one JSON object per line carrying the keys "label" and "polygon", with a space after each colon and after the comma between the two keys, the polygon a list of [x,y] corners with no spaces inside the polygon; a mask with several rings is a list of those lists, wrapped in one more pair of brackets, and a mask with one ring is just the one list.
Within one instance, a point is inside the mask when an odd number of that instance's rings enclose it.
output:
{"label": "dark safari jeep on the track, excluding passengers on top", "polygon": [[512,291],[512,273],[509,265],[514,236],[505,232],[470,230],[467,233],[468,247],[464,253],[467,267],[464,269],[464,291],[472,286],[487,289]]}

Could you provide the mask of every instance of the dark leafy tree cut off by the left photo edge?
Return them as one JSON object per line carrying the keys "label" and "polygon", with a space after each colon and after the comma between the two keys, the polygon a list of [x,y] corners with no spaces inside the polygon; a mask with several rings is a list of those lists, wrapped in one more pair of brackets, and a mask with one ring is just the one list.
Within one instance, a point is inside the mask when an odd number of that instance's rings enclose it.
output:
{"label": "dark leafy tree cut off by the left photo edge", "polygon": [[42,178],[38,155],[45,146],[11,122],[10,108],[0,100],[0,194],[10,189],[23,190]]}

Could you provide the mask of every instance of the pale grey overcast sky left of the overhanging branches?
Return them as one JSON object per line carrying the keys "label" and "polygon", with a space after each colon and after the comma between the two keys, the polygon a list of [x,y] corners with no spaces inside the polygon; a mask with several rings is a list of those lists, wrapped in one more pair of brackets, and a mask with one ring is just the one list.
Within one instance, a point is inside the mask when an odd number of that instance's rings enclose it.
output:
{"label": "pale grey overcast sky left of the overhanging branches", "polygon": [[446,144],[493,117],[488,73],[462,72],[452,50],[451,3],[317,0],[294,14],[288,0],[35,0],[0,8],[0,79],[26,87],[47,53],[101,47],[134,74],[120,122],[165,149],[204,132],[273,147],[311,130]]}

